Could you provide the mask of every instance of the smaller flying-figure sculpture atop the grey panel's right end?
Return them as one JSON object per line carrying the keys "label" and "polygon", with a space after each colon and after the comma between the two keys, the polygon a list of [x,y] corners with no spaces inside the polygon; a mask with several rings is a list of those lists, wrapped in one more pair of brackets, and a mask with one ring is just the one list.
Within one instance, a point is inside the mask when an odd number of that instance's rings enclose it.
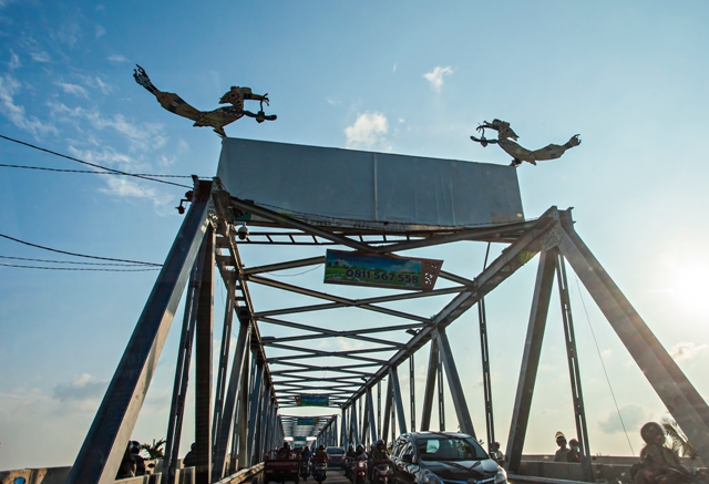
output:
{"label": "smaller flying-figure sculpture atop the grey panel's right end", "polygon": [[[496,131],[497,140],[485,138],[485,130]],[[492,123],[484,121],[483,124],[477,126],[476,131],[482,132],[481,137],[471,136],[471,140],[480,143],[483,147],[487,146],[489,144],[499,144],[501,148],[503,148],[510,156],[512,156],[512,163],[510,164],[510,166],[514,167],[520,166],[522,162],[527,162],[536,165],[536,162],[558,158],[564,153],[566,153],[566,150],[573,148],[574,146],[578,146],[580,144],[580,138],[578,137],[579,135],[575,134],[571,140],[568,140],[567,143],[563,145],[549,144],[543,148],[531,151],[523,146],[520,146],[514,142],[517,140],[517,134],[512,131],[512,127],[510,127],[510,123],[501,120],[493,120]]]}

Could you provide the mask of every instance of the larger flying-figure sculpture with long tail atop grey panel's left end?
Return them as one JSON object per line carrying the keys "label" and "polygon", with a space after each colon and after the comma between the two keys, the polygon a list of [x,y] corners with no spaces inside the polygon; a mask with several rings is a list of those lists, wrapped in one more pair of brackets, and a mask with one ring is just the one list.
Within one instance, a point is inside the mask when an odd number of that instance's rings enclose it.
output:
{"label": "larger flying-figure sculpture with long tail atop grey panel's left end", "polygon": [[[224,126],[244,116],[253,117],[257,123],[276,121],[275,114],[264,113],[264,103],[268,105],[268,94],[254,94],[249,87],[233,85],[232,89],[219,99],[219,104],[230,104],[230,106],[218,107],[214,111],[199,111],[187,104],[177,94],[160,91],[153,85],[145,70],[137,64],[136,66],[137,69],[133,71],[135,82],[150,91],[164,109],[178,116],[194,121],[194,126],[212,126],[214,132],[219,136],[226,137]],[[258,113],[246,111],[244,109],[244,101],[259,101],[260,109]]]}

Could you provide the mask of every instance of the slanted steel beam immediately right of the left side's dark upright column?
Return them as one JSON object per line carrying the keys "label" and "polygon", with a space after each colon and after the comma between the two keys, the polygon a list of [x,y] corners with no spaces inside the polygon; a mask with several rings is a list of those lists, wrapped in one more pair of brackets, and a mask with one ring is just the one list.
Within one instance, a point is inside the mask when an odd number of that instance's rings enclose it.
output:
{"label": "slanted steel beam immediately right of the left side's dark upright column", "polygon": [[[229,436],[232,435],[232,424],[235,420],[234,414],[236,411],[236,403],[238,402],[240,397],[239,387],[242,383],[242,373],[246,373],[246,371],[244,370],[246,369],[246,359],[250,344],[250,333],[251,325],[250,320],[248,319],[248,315],[245,315],[245,317],[239,317],[239,334],[236,340],[234,361],[232,362],[229,389],[226,394],[226,399],[224,400],[224,408],[222,410],[223,414],[219,421],[219,426],[214,429],[216,439],[214,445],[214,466],[212,467],[213,482],[219,481],[222,477],[224,477],[225,474],[226,452],[229,445]],[[245,421],[237,421],[236,425],[243,423],[245,423]],[[236,455],[232,454],[232,460],[235,459]]]}

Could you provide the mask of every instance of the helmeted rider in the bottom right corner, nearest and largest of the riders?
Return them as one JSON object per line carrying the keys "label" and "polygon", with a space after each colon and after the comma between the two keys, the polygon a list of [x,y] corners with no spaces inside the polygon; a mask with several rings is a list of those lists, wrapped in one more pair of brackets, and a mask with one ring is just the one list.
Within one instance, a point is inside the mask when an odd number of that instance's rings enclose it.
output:
{"label": "helmeted rider in the bottom right corner, nearest and largest of the riders", "polygon": [[630,470],[634,484],[677,484],[692,477],[693,472],[665,446],[665,430],[659,423],[643,425],[640,436],[647,445],[640,451],[640,462]]}

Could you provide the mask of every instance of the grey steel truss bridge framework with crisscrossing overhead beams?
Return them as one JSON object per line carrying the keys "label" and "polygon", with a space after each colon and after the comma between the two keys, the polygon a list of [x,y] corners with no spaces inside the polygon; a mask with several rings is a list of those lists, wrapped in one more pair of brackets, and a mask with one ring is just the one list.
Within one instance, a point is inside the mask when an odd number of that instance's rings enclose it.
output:
{"label": "grey steel truss bridge framework with crisscrossing overhead beams", "polygon": [[[474,306],[480,317],[483,356],[486,421],[482,432],[485,433],[485,442],[495,442],[484,298],[537,255],[533,302],[506,440],[507,472],[514,474],[521,465],[542,339],[556,279],[563,307],[582,468],[584,478],[593,482],[590,456],[586,451],[589,449],[587,423],[569,306],[567,264],[687,433],[699,456],[703,462],[709,462],[709,408],[574,230],[571,210],[551,207],[534,220],[485,228],[374,233],[307,224],[253,202],[225,195],[215,187],[214,181],[195,177],[189,209],[68,483],[109,483],[114,480],[183,294],[186,303],[163,482],[174,482],[193,350],[196,368],[193,382],[196,394],[196,483],[216,483],[238,470],[259,463],[267,450],[276,447],[287,436],[311,437],[318,445],[343,446],[371,443],[377,439],[390,440],[414,428],[432,429],[434,406],[438,406],[440,429],[444,429],[445,388],[452,395],[461,431],[479,436],[481,428],[473,425],[460,369],[446,334],[448,327]],[[233,217],[235,209],[258,216],[261,225],[268,228],[253,231],[247,238],[240,239],[238,223]],[[282,269],[321,265],[325,256],[249,266],[244,264],[240,254],[245,246],[253,245],[321,245],[363,254],[395,255],[423,247],[443,247],[461,240],[497,241],[507,246],[473,279],[442,270],[439,277],[450,281],[450,287],[428,292],[392,295],[389,291],[364,299],[333,296],[269,277],[269,274]],[[215,271],[228,294],[222,343],[216,352],[212,347]],[[259,309],[249,294],[254,285],[307,297],[309,301],[317,299],[318,302]],[[434,316],[420,316],[386,306],[434,296],[448,298],[448,302]],[[363,316],[371,312],[384,315],[392,323],[357,330],[333,330],[289,319],[292,315],[319,313],[338,308],[356,308]],[[362,321],[366,320],[362,317]],[[268,336],[266,330],[274,327],[297,330],[297,336]],[[230,353],[233,332],[236,334],[236,346]],[[333,341],[336,338],[364,344],[356,349],[338,349],[339,346]],[[423,408],[415,409],[414,357],[429,342],[429,354],[418,356],[428,357],[429,363]],[[269,357],[269,351],[278,352],[278,356]],[[218,370],[213,374],[215,358],[218,360]],[[410,395],[402,394],[400,389],[397,369],[402,365],[410,369]],[[327,370],[326,377],[321,375],[323,370]],[[386,384],[382,384],[384,381]],[[336,414],[321,415],[309,425],[298,425],[298,419],[289,415],[288,409],[296,405],[296,397],[312,393],[328,397],[330,406],[339,409]],[[404,405],[410,405],[409,422],[404,416]]]}

